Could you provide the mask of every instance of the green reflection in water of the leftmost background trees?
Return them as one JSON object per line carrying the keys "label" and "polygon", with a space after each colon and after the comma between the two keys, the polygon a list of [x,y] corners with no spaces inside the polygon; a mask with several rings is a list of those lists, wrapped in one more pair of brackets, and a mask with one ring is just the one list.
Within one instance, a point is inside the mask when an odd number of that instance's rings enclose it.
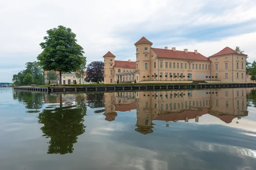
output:
{"label": "green reflection in water of the leftmost background trees", "polygon": [[23,103],[27,109],[40,109],[44,105],[43,93],[32,93],[24,91],[13,91],[13,99]]}

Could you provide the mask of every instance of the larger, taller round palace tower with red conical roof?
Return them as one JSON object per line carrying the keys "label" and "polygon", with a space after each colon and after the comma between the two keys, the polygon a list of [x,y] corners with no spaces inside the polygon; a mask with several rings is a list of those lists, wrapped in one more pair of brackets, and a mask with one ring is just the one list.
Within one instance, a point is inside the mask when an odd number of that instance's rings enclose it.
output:
{"label": "larger, taller round palace tower with red conical roof", "polygon": [[136,81],[140,82],[146,77],[151,77],[151,46],[152,42],[148,41],[145,37],[142,37],[135,44],[136,46]]}

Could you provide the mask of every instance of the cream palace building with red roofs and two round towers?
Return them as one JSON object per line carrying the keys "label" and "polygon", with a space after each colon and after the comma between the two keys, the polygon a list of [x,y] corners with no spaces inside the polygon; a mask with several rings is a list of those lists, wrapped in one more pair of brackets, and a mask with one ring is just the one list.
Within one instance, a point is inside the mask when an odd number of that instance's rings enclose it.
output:
{"label": "cream palace building with red roofs and two round towers", "polygon": [[205,57],[197,50],[153,48],[153,43],[145,37],[134,45],[136,62],[115,60],[116,56],[110,51],[103,56],[105,84],[116,83],[117,80],[134,82],[135,79],[136,82],[176,79],[246,82],[247,55],[229,47]]}

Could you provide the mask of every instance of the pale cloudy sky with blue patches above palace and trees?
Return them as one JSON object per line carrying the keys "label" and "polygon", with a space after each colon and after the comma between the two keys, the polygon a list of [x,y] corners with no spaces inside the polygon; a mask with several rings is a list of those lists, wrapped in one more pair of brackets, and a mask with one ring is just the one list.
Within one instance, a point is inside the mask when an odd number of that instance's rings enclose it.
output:
{"label": "pale cloudy sky with blue patches above palace and trees", "polygon": [[87,64],[136,60],[141,37],[154,48],[198,50],[206,57],[240,46],[256,60],[256,0],[0,0],[0,82],[37,61],[46,31],[71,28]]}

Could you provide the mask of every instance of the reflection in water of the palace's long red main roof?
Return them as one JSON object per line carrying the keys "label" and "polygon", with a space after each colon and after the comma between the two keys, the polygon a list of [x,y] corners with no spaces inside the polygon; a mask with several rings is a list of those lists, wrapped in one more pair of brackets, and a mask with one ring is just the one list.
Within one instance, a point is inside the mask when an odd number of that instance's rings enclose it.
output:
{"label": "reflection in water of the palace's long red main roof", "polygon": [[183,111],[180,113],[167,113],[167,114],[158,114],[154,120],[162,121],[175,121],[175,120],[185,120],[187,117],[189,119],[195,119],[196,116],[202,116],[207,114],[208,108],[200,108],[201,111]]}

